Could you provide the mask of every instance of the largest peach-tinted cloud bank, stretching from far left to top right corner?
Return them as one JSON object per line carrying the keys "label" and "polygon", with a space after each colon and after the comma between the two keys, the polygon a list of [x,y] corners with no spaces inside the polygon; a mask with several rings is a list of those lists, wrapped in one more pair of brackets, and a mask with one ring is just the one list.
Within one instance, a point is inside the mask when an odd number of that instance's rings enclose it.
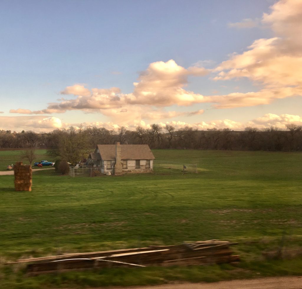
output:
{"label": "largest peach-tinted cloud bank, stretching from far left to top right corner", "polygon": [[[101,113],[114,120],[127,123],[129,120],[166,119],[192,112],[166,111],[172,105],[191,106],[211,103],[214,108],[227,109],[270,104],[276,99],[302,95],[302,1],[281,0],[263,14],[260,20],[244,19],[230,23],[233,27],[247,27],[259,22],[270,28],[274,37],[256,39],[244,52],[231,54],[216,68],[207,70],[204,66],[213,61],[204,60],[185,68],[173,59],[149,64],[134,82],[133,92],[124,94],[117,87],[110,89],[88,89],[83,84],[67,86],[60,93],[74,95],[70,99],[49,103],[42,110],[11,110],[11,113],[47,114],[81,110],[85,113]],[[259,87],[256,91],[202,95],[187,89],[188,77],[205,76],[214,73],[215,81],[246,78]],[[217,82],[215,82],[217,83]],[[219,84],[219,86],[222,86]],[[165,110],[163,108],[166,108]]]}

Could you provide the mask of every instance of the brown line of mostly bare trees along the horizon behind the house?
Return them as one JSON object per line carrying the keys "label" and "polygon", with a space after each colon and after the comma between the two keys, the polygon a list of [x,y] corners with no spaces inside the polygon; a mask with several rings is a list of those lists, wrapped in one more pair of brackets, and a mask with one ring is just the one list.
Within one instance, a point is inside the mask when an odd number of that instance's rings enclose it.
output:
{"label": "brown line of mostly bare trees along the horizon behind the house", "polygon": [[100,127],[70,127],[48,133],[0,131],[0,148],[47,148],[60,157],[73,153],[77,158],[83,148],[91,151],[97,144],[117,142],[148,144],[152,149],[301,151],[302,126],[288,124],[284,130],[246,127],[244,131],[198,131],[189,126],[176,130],[171,125],[152,124],[148,129],[137,126],[135,130],[121,126],[117,131]]}

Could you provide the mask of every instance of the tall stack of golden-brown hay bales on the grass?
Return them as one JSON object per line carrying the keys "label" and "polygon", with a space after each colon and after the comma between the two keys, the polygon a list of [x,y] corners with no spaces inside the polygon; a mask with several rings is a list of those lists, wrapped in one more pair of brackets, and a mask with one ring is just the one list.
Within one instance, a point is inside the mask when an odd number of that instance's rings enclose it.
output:
{"label": "tall stack of golden-brown hay bales on the grass", "polygon": [[30,165],[24,166],[22,162],[16,162],[14,175],[16,191],[31,191],[33,170]]}

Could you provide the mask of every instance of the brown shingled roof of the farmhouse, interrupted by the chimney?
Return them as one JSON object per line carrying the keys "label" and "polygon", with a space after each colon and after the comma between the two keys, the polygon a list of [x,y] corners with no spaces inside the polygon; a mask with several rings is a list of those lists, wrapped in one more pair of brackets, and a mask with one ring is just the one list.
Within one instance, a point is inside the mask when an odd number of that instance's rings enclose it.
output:
{"label": "brown shingled roof of the farmhouse, interrupted by the chimney", "polygon": [[[115,160],[115,144],[98,144],[102,160]],[[122,160],[154,160],[148,144],[120,144]]]}

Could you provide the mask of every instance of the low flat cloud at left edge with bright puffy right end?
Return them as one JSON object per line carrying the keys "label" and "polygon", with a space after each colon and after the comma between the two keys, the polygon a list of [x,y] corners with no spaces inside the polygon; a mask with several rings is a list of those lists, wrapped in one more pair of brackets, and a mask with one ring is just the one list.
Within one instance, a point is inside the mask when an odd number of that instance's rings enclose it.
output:
{"label": "low flat cloud at left edge with bright puffy right end", "polygon": [[43,116],[0,117],[0,129],[52,131],[66,126],[59,118]]}

